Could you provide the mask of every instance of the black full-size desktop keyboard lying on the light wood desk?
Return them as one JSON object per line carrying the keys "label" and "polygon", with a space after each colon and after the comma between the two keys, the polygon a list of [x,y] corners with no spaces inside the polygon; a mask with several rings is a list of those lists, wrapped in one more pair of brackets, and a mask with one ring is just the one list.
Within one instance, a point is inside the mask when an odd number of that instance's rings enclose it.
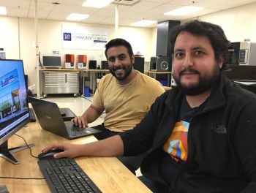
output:
{"label": "black full-size desktop keyboard lying on the light wood desk", "polygon": [[46,159],[37,163],[51,192],[101,192],[74,159]]}

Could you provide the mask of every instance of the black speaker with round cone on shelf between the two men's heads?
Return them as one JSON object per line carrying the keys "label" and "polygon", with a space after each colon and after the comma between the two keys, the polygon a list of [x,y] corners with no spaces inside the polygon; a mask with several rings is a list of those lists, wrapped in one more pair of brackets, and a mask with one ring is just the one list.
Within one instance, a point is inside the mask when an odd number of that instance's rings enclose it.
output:
{"label": "black speaker with round cone on shelf between the two men's heads", "polygon": [[150,70],[159,72],[170,72],[172,69],[170,57],[168,56],[155,56],[150,59]]}

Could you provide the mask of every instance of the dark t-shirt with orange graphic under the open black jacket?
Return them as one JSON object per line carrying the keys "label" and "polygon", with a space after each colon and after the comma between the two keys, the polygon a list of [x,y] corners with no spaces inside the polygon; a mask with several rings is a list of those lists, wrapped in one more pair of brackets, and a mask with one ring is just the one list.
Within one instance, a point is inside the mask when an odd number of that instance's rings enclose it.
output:
{"label": "dark t-shirt with orange graphic under the open black jacket", "polygon": [[178,173],[181,164],[187,161],[189,124],[192,118],[204,107],[205,103],[203,102],[199,107],[192,108],[187,103],[185,96],[181,101],[179,118],[174,125],[173,132],[163,145],[160,173],[162,173],[162,177],[167,183],[170,183],[173,176]]}

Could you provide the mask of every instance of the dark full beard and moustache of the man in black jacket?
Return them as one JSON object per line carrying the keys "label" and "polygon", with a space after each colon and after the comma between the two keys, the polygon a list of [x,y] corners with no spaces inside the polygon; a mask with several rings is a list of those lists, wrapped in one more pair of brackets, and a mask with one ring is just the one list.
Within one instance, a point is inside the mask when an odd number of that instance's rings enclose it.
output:
{"label": "dark full beard and moustache of the man in black jacket", "polygon": [[[194,72],[199,75],[198,82],[189,84],[188,86],[184,85],[180,81],[181,74],[184,72]],[[177,87],[181,90],[181,92],[187,96],[195,96],[197,94],[202,94],[205,91],[210,90],[214,87],[214,84],[217,82],[219,78],[219,68],[217,67],[217,64],[214,65],[213,72],[208,75],[201,75],[200,72],[198,72],[195,69],[183,69],[181,72],[179,72],[179,77],[176,77],[173,75],[174,80],[176,81]]]}

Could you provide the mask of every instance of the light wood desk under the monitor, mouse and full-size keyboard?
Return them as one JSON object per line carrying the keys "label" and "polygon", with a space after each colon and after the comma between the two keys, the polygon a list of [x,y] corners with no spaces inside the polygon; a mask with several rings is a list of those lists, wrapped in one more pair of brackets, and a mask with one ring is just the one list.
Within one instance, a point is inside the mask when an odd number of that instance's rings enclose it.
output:
{"label": "light wood desk under the monitor, mouse and full-size keyboard", "polygon": [[[53,135],[39,126],[37,122],[17,132],[26,139],[27,143],[34,143],[32,154],[37,156],[46,145],[52,143],[89,143],[96,140],[95,137],[83,137],[76,140],[66,140],[58,135]],[[25,145],[24,141],[13,135],[9,142],[9,148]],[[42,178],[37,159],[32,157],[29,149],[15,153],[20,164],[12,164],[0,158],[0,176],[20,178]],[[127,167],[124,167],[116,157],[80,157],[76,162],[86,171],[89,177],[97,184],[102,192],[150,192],[150,190],[135,177]],[[0,185],[6,185],[11,193],[48,193],[50,189],[45,180],[17,180],[1,179]]]}

